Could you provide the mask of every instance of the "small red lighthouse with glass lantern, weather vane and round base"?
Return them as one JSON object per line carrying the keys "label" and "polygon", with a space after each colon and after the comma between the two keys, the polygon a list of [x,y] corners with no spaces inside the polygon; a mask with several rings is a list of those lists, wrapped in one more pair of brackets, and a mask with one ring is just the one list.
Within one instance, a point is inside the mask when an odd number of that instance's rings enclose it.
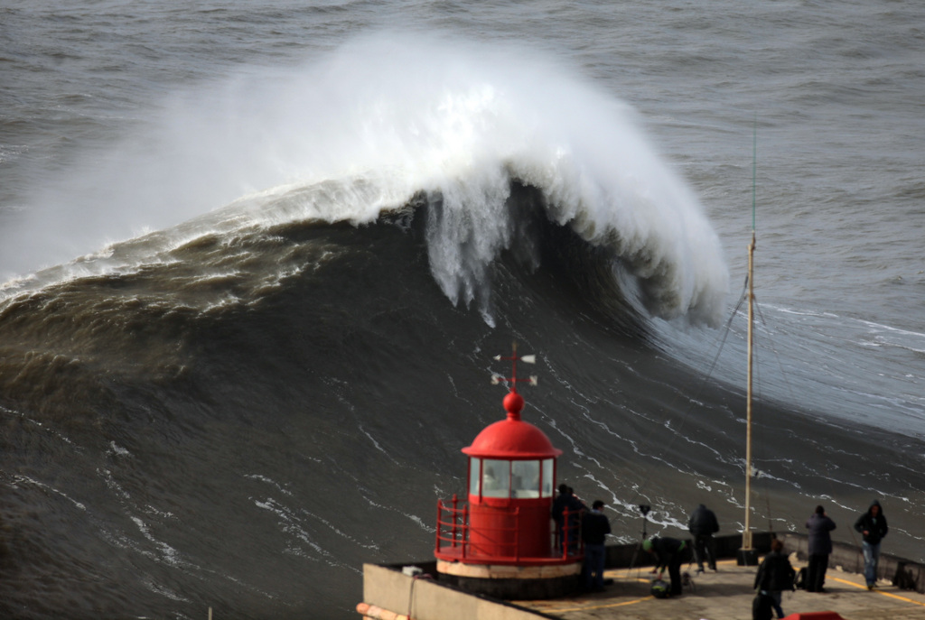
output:
{"label": "small red lighthouse with glass lantern, weather vane and round base", "polygon": [[[496,359],[512,360],[507,416],[462,448],[468,501],[454,495],[451,504],[438,502],[437,570],[465,590],[502,598],[559,596],[575,586],[583,557],[577,545],[555,544],[551,508],[562,451],[521,419],[516,364],[534,356],[517,358],[515,346],[511,358]],[[529,381],[535,385],[536,377]]]}

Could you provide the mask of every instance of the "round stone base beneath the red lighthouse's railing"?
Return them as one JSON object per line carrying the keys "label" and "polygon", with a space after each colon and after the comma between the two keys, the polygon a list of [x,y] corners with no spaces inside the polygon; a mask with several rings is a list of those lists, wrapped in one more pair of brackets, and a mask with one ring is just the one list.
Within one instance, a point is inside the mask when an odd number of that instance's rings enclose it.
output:
{"label": "round stone base beneath the red lighthouse's railing", "polygon": [[552,599],[573,594],[581,586],[581,569],[581,562],[514,566],[437,561],[441,582],[507,600]]}

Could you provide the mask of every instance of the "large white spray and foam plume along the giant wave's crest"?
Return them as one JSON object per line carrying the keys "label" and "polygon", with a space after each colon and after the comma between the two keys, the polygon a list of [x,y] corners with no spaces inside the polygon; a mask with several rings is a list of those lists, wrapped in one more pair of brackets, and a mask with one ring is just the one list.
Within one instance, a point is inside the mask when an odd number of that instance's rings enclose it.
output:
{"label": "large white spray and foam plume along the giant wave's crest", "polygon": [[427,230],[432,273],[468,304],[516,243],[512,179],[544,192],[549,219],[630,265],[654,313],[722,312],[718,238],[624,103],[536,50],[395,33],[174,96],[150,131],[36,196],[53,217],[0,258],[41,246],[34,269],[68,260],[55,249],[93,251],[230,203],[234,225],[367,223],[424,190],[442,199]]}

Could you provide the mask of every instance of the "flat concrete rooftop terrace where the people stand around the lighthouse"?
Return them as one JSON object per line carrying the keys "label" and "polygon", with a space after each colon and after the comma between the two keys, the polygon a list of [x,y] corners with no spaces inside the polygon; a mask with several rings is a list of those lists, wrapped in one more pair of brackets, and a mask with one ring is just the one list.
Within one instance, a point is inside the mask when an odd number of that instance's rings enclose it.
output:
{"label": "flat concrete rooftop terrace where the people stand around the lighthouse", "polygon": [[[806,565],[805,536],[777,537],[796,569]],[[763,555],[770,541],[770,534],[756,535],[754,544]],[[550,600],[501,601],[471,594],[441,583],[433,561],[415,564],[422,570],[416,576],[404,574],[401,565],[364,565],[364,602],[357,611],[376,620],[748,620],[756,566],[738,565],[734,558],[740,544],[737,536],[717,539],[717,555],[726,558],[718,563],[717,572],[697,575],[696,565],[683,566],[689,583],[682,596],[672,599],[649,594],[652,562],[647,554],[637,553],[636,545],[608,547],[606,577],[612,583],[605,591]],[[925,566],[884,553],[877,587],[867,590],[859,554],[855,548],[836,544],[826,592],[785,592],[784,613],[833,612],[845,620],[925,620]]]}

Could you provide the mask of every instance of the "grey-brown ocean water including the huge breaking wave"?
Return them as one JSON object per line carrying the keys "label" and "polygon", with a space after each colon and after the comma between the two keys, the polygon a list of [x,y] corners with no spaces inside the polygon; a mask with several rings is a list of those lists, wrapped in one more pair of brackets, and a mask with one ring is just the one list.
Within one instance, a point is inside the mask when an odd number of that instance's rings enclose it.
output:
{"label": "grey-brown ocean water including the huge breaking wave", "polygon": [[925,6],[0,6],[0,615],[348,618],[524,417],[616,540],[925,559]]}

